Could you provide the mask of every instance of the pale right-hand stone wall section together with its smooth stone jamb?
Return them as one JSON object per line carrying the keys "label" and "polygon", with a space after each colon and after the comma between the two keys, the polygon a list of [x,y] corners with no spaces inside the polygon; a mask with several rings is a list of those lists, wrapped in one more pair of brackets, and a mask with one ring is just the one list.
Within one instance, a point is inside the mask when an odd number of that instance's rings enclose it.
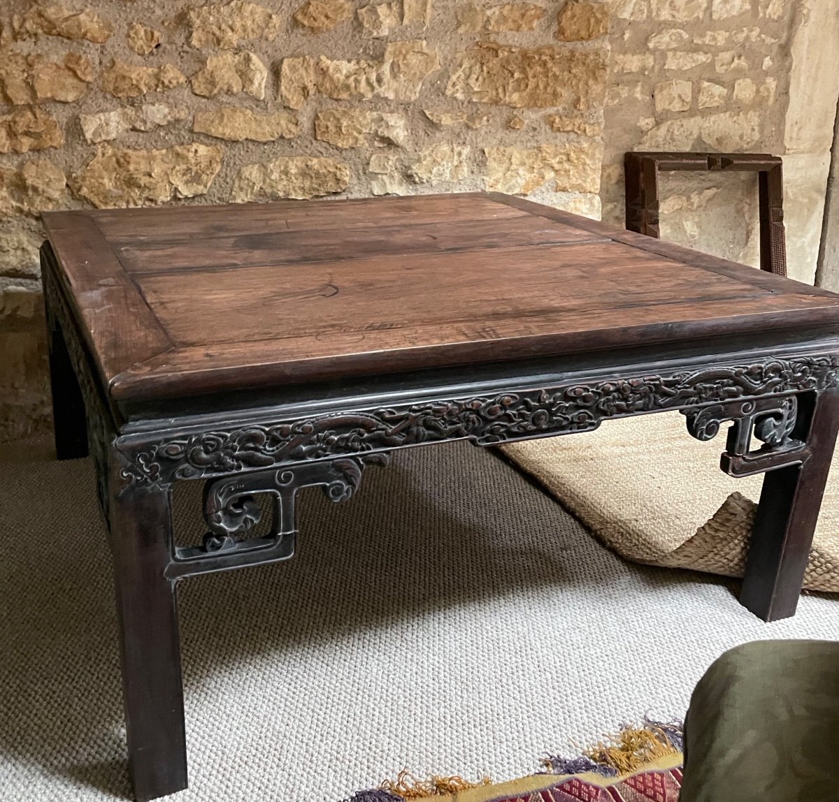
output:
{"label": "pale right-hand stone wall section together with its smooth stone jamb", "polygon": [[[839,96],[828,65],[836,5],[623,0],[613,10],[603,219],[623,222],[627,150],[774,153],[784,157],[789,276],[812,283]],[[671,173],[664,186],[665,239],[757,266],[753,176]]]}

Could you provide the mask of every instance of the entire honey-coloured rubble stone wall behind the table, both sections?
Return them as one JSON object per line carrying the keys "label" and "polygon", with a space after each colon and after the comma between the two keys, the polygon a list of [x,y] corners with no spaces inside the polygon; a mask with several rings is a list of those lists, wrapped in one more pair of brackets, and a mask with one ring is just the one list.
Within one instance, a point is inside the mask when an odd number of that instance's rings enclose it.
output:
{"label": "entire honey-coloured rubble stone wall behind the table, both sections", "polygon": [[[815,2],[6,0],[0,441],[49,426],[39,210],[492,189],[620,222],[626,150],[784,153]],[[674,177],[666,235],[755,261],[749,180]]]}

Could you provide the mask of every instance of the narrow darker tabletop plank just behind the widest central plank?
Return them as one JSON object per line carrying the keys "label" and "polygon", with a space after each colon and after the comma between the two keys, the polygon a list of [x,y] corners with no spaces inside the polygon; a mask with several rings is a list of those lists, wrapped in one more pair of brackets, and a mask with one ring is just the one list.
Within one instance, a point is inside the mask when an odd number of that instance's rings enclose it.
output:
{"label": "narrow darker tabletop plank just behind the widest central plank", "polygon": [[304,229],[211,236],[200,241],[137,243],[129,237],[112,245],[125,269],[136,275],[591,241],[604,240],[570,225],[526,215],[411,225],[375,225],[368,220],[366,227],[331,230],[327,235]]}

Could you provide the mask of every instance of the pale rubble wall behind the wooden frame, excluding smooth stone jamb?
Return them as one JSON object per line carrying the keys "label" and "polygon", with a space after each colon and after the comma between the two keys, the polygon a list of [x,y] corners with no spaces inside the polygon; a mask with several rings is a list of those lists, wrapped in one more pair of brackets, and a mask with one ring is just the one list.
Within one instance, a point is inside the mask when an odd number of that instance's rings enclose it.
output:
{"label": "pale rubble wall behind the wooden frame, excluding smooth stone jamb", "polygon": [[[623,223],[628,150],[784,153],[794,7],[779,0],[628,0],[616,8],[604,220]],[[662,179],[664,239],[757,266],[756,177]]]}

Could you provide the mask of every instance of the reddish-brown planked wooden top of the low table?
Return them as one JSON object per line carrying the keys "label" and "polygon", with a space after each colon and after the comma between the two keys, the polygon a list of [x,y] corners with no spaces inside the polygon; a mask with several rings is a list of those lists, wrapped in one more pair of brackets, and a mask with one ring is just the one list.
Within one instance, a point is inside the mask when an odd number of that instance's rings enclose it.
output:
{"label": "reddish-brown planked wooden top of the low table", "polygon": [[44,214],[118,399],[839,323],[839,296],[501,194]]}

